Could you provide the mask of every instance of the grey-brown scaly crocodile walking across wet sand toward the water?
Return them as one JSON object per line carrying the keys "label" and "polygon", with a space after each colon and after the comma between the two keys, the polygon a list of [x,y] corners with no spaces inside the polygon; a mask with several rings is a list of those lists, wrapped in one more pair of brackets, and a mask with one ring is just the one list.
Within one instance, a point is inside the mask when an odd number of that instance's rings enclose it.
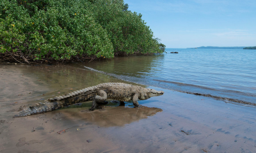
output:
{"label": "grey-brown scaly crocodile walking across wet sand toward the water", "polygon": [[82,103],[84,101],[92,101],[90,110],[95,110],[97,105],[106,104],[106,99],[117,100],[120,101],[120,103],[124,103],[124,101],[132,101],[134,107],[139,107],[138,99],[144,100],[162,94],[164,94],[163,91],[147,89],[138,85],[104,83],[74,91],[63,96],[50,98],[47,101],[44,101],[44,103],[36,103],[35,106],[29,106],[29,108],[20,111],[19,114],[14,117],[26,117],[50,112],[52,110],[57,110],[58,108],[63,108],[64,106]]}

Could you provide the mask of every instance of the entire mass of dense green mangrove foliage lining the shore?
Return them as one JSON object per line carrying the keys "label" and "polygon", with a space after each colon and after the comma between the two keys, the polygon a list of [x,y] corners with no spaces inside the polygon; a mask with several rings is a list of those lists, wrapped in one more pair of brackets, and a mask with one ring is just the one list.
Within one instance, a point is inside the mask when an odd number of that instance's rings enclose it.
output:
{"label": "entire mass of dense green mangrove foliage lining the shore", "polygon": [[33,59],[163,52],[122,0],[2,0],[0,52]]}

